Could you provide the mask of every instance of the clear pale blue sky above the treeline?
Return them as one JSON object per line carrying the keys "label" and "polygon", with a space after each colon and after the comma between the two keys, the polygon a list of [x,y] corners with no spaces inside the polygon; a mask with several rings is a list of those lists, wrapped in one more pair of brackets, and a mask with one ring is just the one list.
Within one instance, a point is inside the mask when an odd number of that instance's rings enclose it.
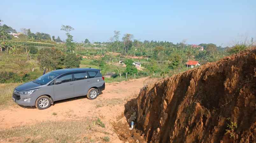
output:
{"label": "clear pale blue sky above the treeline", "polygon": [[66,39],[61,25],[75,28],[80,42],[107,41],[114,30],[134,39],[229,46],[241,37],[256,40],[255,0],[85,1],[1,0],[0,19],[17,31],[31,28]]}

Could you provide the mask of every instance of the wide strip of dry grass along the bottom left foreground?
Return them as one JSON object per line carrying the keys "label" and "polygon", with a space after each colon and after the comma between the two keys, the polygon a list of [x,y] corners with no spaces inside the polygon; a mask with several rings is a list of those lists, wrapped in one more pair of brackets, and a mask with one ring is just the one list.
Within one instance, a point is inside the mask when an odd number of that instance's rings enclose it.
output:
{"label": "wide strip of dry grass along the bottom left foreground", "polygon": [[[0,129],[0,141],[7,142],[98,142],[102,131],[99,118],[79,121],[47,121],[35,125]],[[97,122],[97,123],[96,123]],[[101,126],[101,129],[98,129]]]}

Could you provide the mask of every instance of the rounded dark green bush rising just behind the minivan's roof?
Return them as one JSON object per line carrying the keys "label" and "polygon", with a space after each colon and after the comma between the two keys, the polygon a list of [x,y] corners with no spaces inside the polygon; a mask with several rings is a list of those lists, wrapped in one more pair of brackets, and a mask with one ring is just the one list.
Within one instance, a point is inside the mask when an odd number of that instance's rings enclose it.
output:
{"label": "rounded dark green bush rising just behind the minivan's roof", "polygon": [[74,53],[68,53],[63,61],[65,68],[79,68],[82,57],[77,57]]}

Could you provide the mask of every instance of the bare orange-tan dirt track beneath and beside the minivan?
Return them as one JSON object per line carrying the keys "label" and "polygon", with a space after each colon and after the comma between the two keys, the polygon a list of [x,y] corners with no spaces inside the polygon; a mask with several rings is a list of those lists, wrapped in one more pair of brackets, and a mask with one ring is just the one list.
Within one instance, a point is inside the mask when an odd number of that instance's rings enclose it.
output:
{"label": "bare orange-tan dirt track beneath and beside the minivan", "polygon": [[105,131],[112,134],[110,142],[122,142],[117,134],[114,134],[111,123],[124,118],[124,104],[128,100],[136,98],[143,85],[153,80],[155,79],[140,78],[119,83],[107,83],[103,94],[95,100],[89,100],[84,96],[72,98],[58,101],[45,110],[20,106],[0,110],[0,130],[45,121],[73,121],[85,117],[97,117],[106,125]]}

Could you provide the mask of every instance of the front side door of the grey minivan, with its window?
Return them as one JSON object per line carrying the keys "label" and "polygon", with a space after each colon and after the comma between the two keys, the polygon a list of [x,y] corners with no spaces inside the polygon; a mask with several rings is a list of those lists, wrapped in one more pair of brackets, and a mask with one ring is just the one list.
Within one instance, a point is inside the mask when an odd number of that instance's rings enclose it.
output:
{"label": "front side door of the grey minivan, with its window", "polygon": [[67,99],[74,97],[74,82],[72,73],[58,77],[54,84],[55,100]]}

